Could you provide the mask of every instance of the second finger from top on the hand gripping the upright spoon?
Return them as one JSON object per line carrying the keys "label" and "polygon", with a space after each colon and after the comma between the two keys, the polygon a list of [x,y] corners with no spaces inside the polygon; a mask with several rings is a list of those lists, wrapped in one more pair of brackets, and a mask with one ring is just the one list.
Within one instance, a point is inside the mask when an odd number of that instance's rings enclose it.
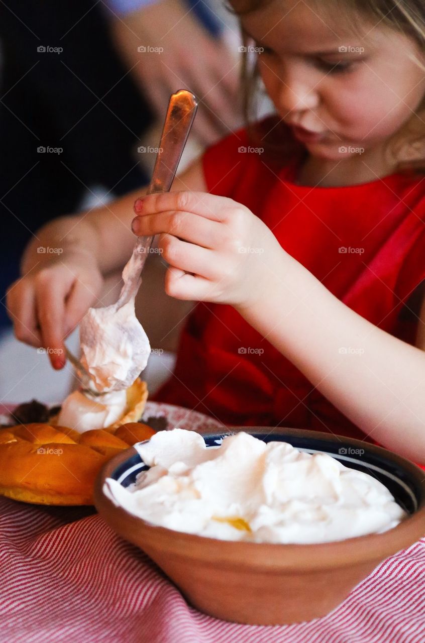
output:
{"label": "second finger from top on the hand gripping the upright spoon", "polygon": [[136,217],[132,230],[140,237],[167,233],[203,248],[219,248],[224,243],[221,224],[191,212],[160,212]]}

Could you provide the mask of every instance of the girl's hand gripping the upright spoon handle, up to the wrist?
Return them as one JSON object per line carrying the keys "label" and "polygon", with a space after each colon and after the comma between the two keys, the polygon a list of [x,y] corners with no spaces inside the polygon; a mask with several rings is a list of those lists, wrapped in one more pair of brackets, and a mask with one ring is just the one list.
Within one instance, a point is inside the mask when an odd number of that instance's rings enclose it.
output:
{"label": "girl's hand gripping the upright spoon handle, up to the wrist", "polygon": [[152,194],[134,204],[136,235],[159,234],[170,264],[165,289],[177,299],[247,307],[266,293],[286,253],[248,208],[203,192]]}

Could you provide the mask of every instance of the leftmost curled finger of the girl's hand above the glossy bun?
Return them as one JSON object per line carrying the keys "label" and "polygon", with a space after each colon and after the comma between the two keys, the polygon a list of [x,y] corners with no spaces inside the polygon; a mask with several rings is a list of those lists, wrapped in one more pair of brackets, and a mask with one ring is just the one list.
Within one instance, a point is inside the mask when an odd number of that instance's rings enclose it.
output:
{"label": "leftmost curled finger of the girl's hand above the glossy bun", "polygon": [[35,291],[27,285],[15,282],[7,294],[8,315],[14,324],[15,336],[30,346],[42,346],[41,332],[38,328]]}

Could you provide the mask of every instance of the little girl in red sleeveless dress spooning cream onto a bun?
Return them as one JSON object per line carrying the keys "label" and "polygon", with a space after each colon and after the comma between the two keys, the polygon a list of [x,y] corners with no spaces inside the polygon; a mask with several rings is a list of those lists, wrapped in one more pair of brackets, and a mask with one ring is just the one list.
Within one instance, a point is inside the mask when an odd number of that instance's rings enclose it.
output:
{"label": "little girl in red sleeveless dress spooning cream onto a bun", "polygon": [[[133,232],[159,235],[167,293],[200,302],[156,399],[425,463],[425,7],[232,6],[278,117],[134,204]],[[63,348],[131,253],[135,198],[37,233],[8,293],[19,339]]]}

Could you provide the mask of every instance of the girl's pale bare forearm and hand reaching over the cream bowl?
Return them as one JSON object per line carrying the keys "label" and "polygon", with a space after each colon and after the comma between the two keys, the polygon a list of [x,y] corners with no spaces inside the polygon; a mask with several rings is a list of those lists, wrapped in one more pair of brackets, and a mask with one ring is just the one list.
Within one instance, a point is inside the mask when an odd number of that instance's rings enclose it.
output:
{"label": "girl's pale bare forearm and hand reaching over the cream bowl", "polygon": [[168,294],[230,303],[366,435],[425,463],[423,350],[339,301],[231,199],[150,195],[135,221],[161,233]]}

